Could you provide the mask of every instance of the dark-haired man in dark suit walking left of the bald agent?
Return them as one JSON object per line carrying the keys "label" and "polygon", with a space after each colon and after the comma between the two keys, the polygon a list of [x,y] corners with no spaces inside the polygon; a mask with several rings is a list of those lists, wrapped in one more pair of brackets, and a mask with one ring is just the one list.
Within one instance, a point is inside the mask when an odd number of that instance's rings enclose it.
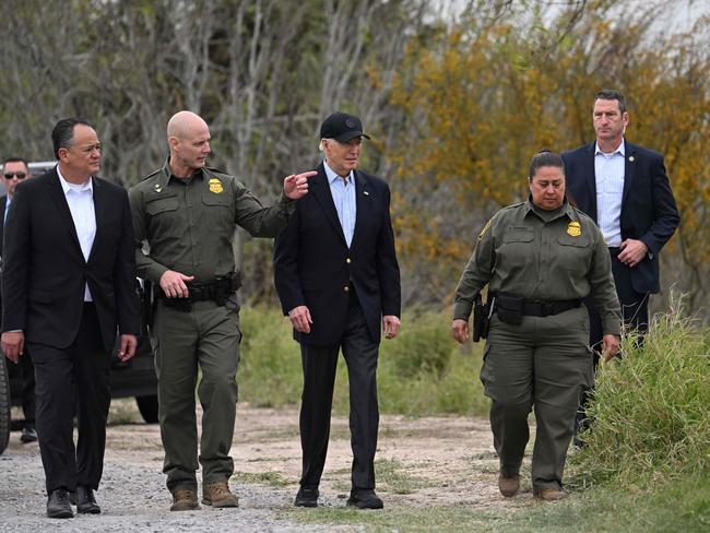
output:
{"label": "dark-haired man in dark suit walking left of the bald agent", "polygon": [[5,222],[2,350],[15,363],[32,352],[47,514],[71,518],[68,491],[78,512],[100,512],[109,354],[118,327],[119,357],[134,355],[140,318],[128,194],[95,176],[88,122],[60,120],[51,138],[58,165],[17,186]]}

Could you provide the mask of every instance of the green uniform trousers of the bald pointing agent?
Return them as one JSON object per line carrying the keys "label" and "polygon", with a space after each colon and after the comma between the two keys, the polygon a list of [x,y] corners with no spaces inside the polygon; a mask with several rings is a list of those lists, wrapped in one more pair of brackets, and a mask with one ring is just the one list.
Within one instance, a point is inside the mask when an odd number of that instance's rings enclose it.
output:
{"label": "green uniform trousers of the bald pointing agent", "polygon": [[200,464],[203,482],[226,482],[237,406],[238,308],[194,301],[191,311],[157,303],[151,341],[155,350],[158,421],[167,487],[197,489],[198,428],[194,388],[202,405]]}

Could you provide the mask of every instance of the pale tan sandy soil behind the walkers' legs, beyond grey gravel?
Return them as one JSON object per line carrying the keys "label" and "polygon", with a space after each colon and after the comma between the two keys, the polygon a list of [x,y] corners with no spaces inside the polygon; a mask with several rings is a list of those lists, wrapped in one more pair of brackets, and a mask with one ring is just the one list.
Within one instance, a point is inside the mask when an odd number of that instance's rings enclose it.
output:
{"label": "pale tan sandy soil behind the walkers' legs, beyond grey gravel", "polygon": [[[135,414],[134,419],[139,418]],[[163,451],[155,425],[110,426],[107,449],[109,458],[161,469]],[[300,476],[297,407],[240,404],[232,457],[237,484],[259,482],[285,487],[295,495]],[[347,497],[351,462],[347,418],[334,416],[320,486],[326,505],[341,505],[332,500]],[[511,502],[498,493],[498,460],[487,418],[382,415],[376,464],[381,472],[377,490],[389,505],[499,507]],[[523,490],[516,499],[530,497]]]}

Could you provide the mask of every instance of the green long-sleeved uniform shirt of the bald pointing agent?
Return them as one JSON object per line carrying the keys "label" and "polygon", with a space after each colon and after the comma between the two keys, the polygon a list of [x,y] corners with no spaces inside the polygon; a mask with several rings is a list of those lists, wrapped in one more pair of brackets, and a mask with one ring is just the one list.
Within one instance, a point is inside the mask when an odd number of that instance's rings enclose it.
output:
{"label": "green long-sleeved uniform shirt of the bald pointing agent", "polygon": [[138,275],[156,284],[167,270],[193,275],[196,282],[232,272],[235,224],[255,237],[275,237],[294,212],[283,193],[264,208],[233,176],[204,167],[180,179],[171,176],[167,161],[131,188],[129,200]]}

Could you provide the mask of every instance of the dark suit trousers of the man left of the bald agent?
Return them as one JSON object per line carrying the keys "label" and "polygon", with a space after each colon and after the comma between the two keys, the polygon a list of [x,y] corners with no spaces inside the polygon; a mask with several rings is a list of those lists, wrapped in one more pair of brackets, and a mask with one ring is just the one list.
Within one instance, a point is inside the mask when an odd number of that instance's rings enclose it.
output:
{"label": "dark suit trousers of the man left of the bald agent", "polygon": [[[110,403],[110,355],[104,348],[93,304],[84,304],[76,339],[68,348],[31,343],[35,364],[36,425],[47,491],[98,488],[104,467],[106,418]],[[74,448],[74,395],[79,440]]]}

